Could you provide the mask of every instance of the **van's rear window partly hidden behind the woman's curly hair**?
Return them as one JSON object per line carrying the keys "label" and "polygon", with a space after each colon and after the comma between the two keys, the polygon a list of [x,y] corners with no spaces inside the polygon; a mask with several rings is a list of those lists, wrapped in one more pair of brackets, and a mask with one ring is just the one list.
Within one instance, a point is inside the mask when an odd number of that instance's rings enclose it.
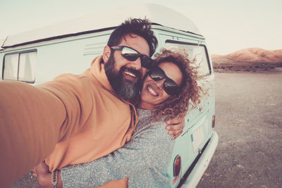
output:
{"label": "van's rear window partly hidden behind the woman's curly hair", "polygon": [[203,45],[197,44],[189,44],[189,43],[180,43],[180,42],[173,42],[170,40],[166,41],[166,48],[167,49],[185,49],[188,53],[188,57],[192,61],[195,59],[195,66],[198,67],[198,74],[200,76],[209,75],[211,73],[211,68],[209,66],[209,60],[207,56],[207,50]]}

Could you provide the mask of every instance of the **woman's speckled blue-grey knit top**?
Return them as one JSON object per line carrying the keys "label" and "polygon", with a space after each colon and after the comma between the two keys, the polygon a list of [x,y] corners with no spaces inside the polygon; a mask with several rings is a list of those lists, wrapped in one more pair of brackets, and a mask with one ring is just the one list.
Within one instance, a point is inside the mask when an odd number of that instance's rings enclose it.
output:
{"label": "woman's speckled blue-grey knit top", "polygon": [[61,170],[63,187],[99,187],[128,177],[128,187],[171,187],[167,174],[174,141],[164,121],[151,122],[150,110],[137,109],[139,123],[122,148],[90,163]]}

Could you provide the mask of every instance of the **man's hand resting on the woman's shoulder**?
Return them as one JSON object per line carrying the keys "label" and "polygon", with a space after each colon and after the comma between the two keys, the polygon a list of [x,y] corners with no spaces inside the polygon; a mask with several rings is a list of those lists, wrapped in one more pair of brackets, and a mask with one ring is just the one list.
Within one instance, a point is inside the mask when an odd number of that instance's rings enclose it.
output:
{"label": "man's hand resting on the woman's shoulder", "polygon": [[183,128],[185,127],[185,118],[174,118],[166,121],[166,130],[168,130],[168,134],[172,135],[171,139],[176,139],[183,132]]}

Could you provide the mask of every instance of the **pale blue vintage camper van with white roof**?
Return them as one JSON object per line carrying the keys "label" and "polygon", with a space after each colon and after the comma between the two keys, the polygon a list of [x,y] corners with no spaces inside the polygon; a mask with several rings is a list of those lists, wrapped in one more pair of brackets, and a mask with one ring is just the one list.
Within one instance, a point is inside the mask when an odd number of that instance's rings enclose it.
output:
{"label": "pale blue vintage camper van with white roof", "polygon": [[196,187],[211,161],[219,137],[214,131],[214,70],[205,38],[191,20],[156,4],[118,8],[8,36],[1,44],[0,77],[40,84],[61,73],[80,74],[102,54],[111,32],[127,18],[149,18],[161,48],[180,47],[196,58],[199,80],[209,94],[185,117],[183,133],[168,166],[171,187]]}

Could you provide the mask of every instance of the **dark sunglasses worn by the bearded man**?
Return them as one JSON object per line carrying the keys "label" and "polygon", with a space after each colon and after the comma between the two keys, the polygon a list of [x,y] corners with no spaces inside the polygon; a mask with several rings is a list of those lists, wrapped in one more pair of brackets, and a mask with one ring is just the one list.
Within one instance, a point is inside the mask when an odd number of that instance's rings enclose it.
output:
{"label": "dark sunglasses worn by the bearded man", "polygon": [[150,68],[152,65],[152,58],[150,58],[149,56],[140,54],[138,51],[128,46],[111,46],[111,49],[121,50],[121,56],[123,56],[123,58],[126,58],[129,61],[135,61],[137,58],[140,57],[141,66],[143,68]]}

